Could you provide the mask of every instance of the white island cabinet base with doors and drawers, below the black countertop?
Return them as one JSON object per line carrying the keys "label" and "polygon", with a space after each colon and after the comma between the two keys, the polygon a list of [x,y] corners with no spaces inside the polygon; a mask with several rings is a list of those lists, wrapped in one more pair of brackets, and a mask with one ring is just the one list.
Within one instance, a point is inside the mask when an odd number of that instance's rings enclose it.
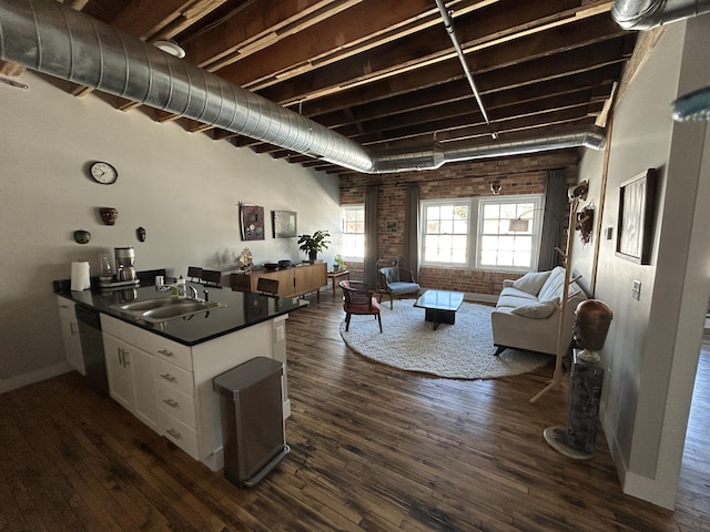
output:
{"label": "white island cabinet base with doors and drawers, below the black countertop", "polygon": [[287,317],[187,347],[102,314],[111,397],[192,458],[217,471],[224,466],[224,453],[214,377],[254,357],[280,360],[284,362],[284,417],[291,415],[285,382]]}

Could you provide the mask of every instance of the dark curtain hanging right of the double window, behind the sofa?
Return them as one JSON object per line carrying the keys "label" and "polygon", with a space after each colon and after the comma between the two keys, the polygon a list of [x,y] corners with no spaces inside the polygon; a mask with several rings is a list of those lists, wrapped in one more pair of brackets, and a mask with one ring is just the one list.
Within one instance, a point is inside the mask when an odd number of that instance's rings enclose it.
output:
{"label": "dark curtain hanging right of the double window, behind the sofa", "polygon": [[547,172],[545,186],[545,213],[542,217],[542,235],[540,254],[537,259],[538,272],[552,269],[560,264],[560,255],[555,247],[562,247],[562,223],[567,212],[567,171],[555,168]]}

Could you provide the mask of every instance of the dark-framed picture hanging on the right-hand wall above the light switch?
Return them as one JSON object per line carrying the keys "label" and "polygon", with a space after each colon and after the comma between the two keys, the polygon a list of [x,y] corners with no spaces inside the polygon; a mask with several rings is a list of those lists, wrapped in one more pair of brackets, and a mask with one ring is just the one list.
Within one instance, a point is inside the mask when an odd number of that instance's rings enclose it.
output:
{"label": "dark-framed picture hanging on the right-hand wall above the light switch", "polygon": [[619,185],[617,256],[650,264],[657,172],[649,168]]}

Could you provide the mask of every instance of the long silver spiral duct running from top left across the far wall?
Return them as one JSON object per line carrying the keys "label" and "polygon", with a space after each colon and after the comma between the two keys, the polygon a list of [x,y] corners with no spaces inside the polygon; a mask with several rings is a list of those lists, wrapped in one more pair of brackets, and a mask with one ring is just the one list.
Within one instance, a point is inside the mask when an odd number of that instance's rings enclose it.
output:
{"label": "long silver spiral duct running from top left across the far wall", "polygon": [[0,59],[362,173],[587,146],[599,131],[373,154],[361,144],[54,0],[0,0]]}

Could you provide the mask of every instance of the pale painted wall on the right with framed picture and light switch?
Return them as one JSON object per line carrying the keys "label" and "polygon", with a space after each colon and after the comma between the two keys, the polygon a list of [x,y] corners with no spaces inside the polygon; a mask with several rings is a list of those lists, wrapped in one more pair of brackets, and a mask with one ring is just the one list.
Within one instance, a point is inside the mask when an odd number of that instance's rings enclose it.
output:
{"label": "pale painted wall on the right with framed picture and light switch", "polygon": [[[669,24],[613,111],[596,297],[613,310],[604,351],[602,423],[627,493],[672,508],[710,293],[707,123],[674,123],[671,102],[710,84],[710,17]],[[619,185],[649,167],[660,183],[650,265],[616,256]],[[580,180],[601,182],[598,155]],[[577,256],[577,255],[576,255]],[[580,255],[581,257],[581,255]],[[576,268],[589,270],[588,260]],[[640,300],[631,298],[635,279]]]}

